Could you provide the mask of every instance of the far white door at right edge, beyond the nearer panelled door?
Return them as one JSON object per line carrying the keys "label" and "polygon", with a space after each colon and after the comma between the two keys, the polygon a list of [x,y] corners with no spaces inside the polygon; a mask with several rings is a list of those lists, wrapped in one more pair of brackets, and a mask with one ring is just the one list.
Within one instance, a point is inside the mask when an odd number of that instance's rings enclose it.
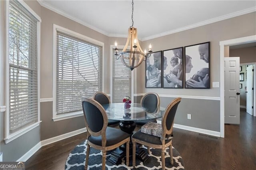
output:
{"label": "far white door at right edge, beyond the nearer panelled door", "polygon": [[247,93],[246,93],[246,112],[250,115],[253,115],[253,74],[252,74],[253,65],[248,65],[247,67]]}

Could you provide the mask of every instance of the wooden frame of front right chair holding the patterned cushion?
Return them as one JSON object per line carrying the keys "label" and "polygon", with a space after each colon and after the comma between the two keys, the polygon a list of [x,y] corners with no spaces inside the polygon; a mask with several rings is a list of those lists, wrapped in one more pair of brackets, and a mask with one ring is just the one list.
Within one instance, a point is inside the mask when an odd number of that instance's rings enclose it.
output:
{"label": "wooden frame of front right chair holding the patterned cushion", "polygon": [[166,118],[168,116],[168,113],[170,112],[170,110],[172,109],[172,107],[174,105],[176,105],[176,103],[180,102],[181,98],[178,97],[176,99],[174,99],[167,107],[166,110],[164,111],[164,116],[162,117],[162,134],[161,134],[161,142],[162,145],[157,145],[157,144],[151,144],[148,142],[144,142],[142,140],[138,140],[135,138],[132,138],[132,165],[135,167],[135,153],[136,153],[136,143],[139,144],[143,144],[144,146],[148,146],[148,147],[152,147],[152,148],[156,148],[156,149],[161,149],[161,158],[162,158],[162,169],[165,169],[165,158],[164,158],[164,150],[166,147],[169,147],[169,154],[170,154],[170,162],[173,165],[173,158],[172,158],[172,140],[170,140],[170,142],[165,143],[165,137],[166,134],[172,134],[172,129],[173,129],[173,123],[171,125],[170,129],[166,128]]}

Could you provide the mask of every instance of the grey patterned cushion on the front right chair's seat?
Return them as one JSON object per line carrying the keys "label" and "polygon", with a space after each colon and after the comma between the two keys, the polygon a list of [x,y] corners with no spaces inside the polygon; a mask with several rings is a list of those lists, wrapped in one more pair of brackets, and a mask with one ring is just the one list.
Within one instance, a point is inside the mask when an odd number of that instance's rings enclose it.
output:
{"label": "grey patterned cushion on the front right chair's seat", "polygon": [[[159,123],[148,122],[141,127],[141,132],[153,136],[162,136],[162,125]],[[165,140],[171,139],[173,136],[168,136]]]}

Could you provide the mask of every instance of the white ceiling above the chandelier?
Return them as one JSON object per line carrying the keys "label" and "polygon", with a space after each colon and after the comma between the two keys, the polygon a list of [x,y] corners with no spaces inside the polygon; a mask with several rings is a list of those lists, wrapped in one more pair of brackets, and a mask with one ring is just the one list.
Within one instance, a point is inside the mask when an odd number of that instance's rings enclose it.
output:
{"label": "white ceiling above the chandelier", "polygon": [[[38,0],[106,36],[127,37],[132,0]],[[256,11],[256,0],[134,0],[134,27],[141,41]]]}

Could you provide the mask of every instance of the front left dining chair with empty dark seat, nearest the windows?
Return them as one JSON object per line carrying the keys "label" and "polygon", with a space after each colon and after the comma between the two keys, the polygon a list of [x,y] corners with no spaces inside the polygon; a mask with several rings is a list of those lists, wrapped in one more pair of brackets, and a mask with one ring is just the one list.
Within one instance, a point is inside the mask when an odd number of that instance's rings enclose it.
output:
{"label": "front left dining chair with empty dark seat, nearest the windows", "polygon": [[113,127],[108,127],[105,109],[94,99],[82,97],[84,121],[87,128],[87,150],[85,170],[88,167],[90,147],[102,150],[102,170],[106,168],[106,151],[113,150],[126,143],[126,165],[129,165],[130,134]]}

